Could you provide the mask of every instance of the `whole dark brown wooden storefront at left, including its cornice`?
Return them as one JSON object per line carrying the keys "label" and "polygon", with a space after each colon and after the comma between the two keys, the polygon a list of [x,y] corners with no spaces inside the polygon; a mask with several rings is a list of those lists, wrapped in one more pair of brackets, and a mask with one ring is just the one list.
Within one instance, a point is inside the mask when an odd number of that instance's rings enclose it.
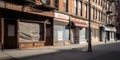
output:
{"label": "whole dark brown wooden storefront at left, including its cornice", "polygon": [[36,10],[29,6],[23,7],[8,2],[2,4],[0,5],[2,49],[53,45],[54,14],[52,11]]}

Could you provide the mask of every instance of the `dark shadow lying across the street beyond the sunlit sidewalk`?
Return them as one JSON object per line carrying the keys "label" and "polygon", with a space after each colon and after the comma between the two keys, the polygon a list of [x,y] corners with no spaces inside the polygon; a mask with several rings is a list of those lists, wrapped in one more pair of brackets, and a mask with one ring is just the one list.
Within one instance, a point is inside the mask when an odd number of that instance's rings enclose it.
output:
{"label": "dark shadow lying across the street beyond the sunlit sidewalk", "polygon": [[[108,43],[93,46],[93,52],[87,52],[87,46],[71,49],[58,49],[55,52],[45,54],[34,54],[20,58],[12,57],[6,60],[120,60],[120,51],[111,51],[103,53],[106,49],[114,49],[120,46],[120,43]],[[39,49],[30,49],[31,51]],[[48,49],[49,50],[49,49]],[[99,50],[99,51],[98,51]],[[23,49],[24,51],[24,49]],[[38,52],[41,53],[41,52]],[[101,53],[100,55],[98,53]],[[94,55],[94,56],[92,56]],[[8,55],[9,56],[9,55]]]}

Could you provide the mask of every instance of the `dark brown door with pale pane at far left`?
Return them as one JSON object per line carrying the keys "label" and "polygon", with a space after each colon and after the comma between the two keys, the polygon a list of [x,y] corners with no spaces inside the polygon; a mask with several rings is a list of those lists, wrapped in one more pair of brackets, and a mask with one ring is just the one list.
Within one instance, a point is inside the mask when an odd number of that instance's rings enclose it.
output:
{"label": "dark brown door with pale pane at far left", "polygon": [[17,48],[17,20],[4,20],[4,49]]}

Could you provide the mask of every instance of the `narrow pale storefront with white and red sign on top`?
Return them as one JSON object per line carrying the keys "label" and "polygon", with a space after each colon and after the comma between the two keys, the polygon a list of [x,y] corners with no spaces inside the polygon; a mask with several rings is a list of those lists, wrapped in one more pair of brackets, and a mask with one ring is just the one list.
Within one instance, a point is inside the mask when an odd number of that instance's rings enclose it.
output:
{"label": "narrow pale storefront with white and red sign on top", "polygon": [[55,12],[54,45],[69,45],[69,16]]}

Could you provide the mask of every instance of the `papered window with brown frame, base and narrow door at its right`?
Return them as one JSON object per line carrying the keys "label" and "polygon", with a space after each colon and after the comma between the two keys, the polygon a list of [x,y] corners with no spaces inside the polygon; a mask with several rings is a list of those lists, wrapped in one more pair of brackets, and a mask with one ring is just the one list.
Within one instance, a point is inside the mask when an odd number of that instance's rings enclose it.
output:
{"label": "papered window with brown frame, base and narrow door at its right", "polygon": [[19,47],[40,47],[53,45],[52,18],[42,20],[19,20]]}

